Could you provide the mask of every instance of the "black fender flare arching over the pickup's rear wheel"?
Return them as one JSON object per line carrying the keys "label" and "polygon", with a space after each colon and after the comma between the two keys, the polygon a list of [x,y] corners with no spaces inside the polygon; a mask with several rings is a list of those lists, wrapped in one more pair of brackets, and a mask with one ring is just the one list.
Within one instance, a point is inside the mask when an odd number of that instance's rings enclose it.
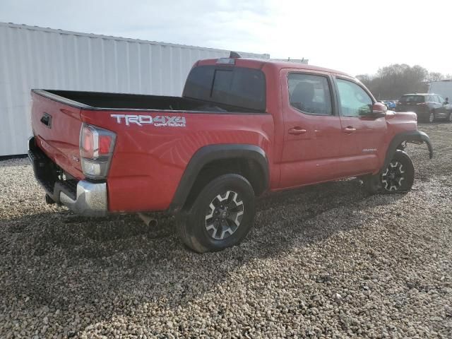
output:
{"label": "black fender flare arching over the pickup's rear wheel", "polygon": [[194,153],[193,157],[187,164],[184,174],[177,186],[177,190],[172,198],[169,211],[178,212],[184,207],[186,198],[193,187],[196,178],[201,169],[209,162],[215,160],[225,160],[232,158],[243,158],[255,160],[261,167],[264,177],[264,191],[269,185],[268,159],[262,148],[256,145],[248,144],[218,144],[203,146]]}

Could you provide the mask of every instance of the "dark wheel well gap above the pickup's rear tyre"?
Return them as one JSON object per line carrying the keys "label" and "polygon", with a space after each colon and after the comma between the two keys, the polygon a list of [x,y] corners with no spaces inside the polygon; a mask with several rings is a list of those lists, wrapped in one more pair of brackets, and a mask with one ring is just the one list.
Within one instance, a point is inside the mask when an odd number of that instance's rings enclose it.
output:
{"label": "dark wheel well gap above the pickup's rear tyre", "polygon": [[256,160],[240,157],[213,160],[201,168],[193,186],[191,186],[185,204],[189,203],[189,201],[194,201],[194,198],[196,198],[206,184],[222,174],[242,175],[242,177],[245,177],[249,181],[256,196],[263,194],[267,187],[263,169]]}

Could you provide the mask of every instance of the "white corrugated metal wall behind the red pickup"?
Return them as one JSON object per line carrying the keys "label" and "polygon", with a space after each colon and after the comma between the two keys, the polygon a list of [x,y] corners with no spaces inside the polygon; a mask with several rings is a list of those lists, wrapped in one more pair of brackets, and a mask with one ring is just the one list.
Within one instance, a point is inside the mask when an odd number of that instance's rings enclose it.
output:
{"label": "white corrugated metal wall behind the red pickup", "polygon": [[0,23],[0,156],[27,152],[31,88],[181,95],[194,62],[228,55],[220,49]]}

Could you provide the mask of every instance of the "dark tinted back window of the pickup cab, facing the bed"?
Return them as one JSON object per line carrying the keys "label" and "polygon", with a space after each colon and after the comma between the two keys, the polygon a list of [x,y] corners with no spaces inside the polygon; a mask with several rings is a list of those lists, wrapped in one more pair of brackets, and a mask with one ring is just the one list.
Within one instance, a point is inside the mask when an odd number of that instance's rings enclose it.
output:
{"label": "dark tinted back window of the pickup cab, facing the bed", "polygon": [[258,69],[198,66],[191,70],[183,96],[265,112],[266,79]]}

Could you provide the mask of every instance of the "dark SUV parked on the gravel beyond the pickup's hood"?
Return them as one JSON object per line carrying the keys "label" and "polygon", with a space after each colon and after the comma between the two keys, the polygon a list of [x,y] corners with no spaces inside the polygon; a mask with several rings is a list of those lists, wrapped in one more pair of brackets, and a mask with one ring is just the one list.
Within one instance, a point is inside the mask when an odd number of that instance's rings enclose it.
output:
{"label": "dark SUV parked on the gravel beyond the pickup's hood", "polygon": [[415,112],[420,121],[434,122],[436,119],[447,119],[452,122],[451,105],[434,93],[405,94],[400,97],[396,106],[397,112]]}

